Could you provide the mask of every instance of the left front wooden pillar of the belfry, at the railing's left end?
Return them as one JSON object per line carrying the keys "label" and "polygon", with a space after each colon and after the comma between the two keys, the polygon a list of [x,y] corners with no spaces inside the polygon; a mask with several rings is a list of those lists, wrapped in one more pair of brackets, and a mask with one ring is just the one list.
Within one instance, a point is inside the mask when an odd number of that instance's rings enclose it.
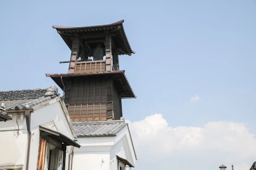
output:
{"label": "left front wooden pillar of the belfry, at the railing's left end", "polygon": [[71,50],[68,73],[74,73],[75,72],[75,66],[76,66],[76,60],[77,60],[77,57],[78,57],[78,51],[79,51],[79,36],[75,35],[75,37],[73,39],[73,45],[72,45],[72,50]]}

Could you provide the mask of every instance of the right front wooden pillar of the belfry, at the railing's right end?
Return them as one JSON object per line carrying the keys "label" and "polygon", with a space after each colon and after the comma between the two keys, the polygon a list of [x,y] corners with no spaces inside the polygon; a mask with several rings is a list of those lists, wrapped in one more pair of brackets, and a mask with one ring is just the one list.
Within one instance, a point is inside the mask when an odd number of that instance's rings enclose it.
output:
{"label": "right front wooden pillar of the belfry, at the railing's right end", "polygon": [[112,71],[111,36],[109,31],[105,32],[106,47],[106,71]]}

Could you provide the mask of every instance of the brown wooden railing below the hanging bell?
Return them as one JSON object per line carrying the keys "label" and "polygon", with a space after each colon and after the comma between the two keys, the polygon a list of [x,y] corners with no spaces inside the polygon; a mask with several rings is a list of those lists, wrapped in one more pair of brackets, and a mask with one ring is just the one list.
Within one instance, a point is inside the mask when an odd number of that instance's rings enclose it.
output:
{"label": "brown wooden railing below the hanging bell", "polygon": [[99,71],[106,71],[105,60],[76,62],[75,73],[90,73]]}

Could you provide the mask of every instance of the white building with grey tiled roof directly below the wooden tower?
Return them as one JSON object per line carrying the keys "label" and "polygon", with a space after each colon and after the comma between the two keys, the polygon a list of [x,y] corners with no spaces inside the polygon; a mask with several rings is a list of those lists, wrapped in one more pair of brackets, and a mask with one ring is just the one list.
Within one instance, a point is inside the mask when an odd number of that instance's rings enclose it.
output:
{"label": "white building with grey tiled roof directly below the wooden tower", "polygon": [[135,166],[137,158],[124,120],[73,122],[73,126],[81,145],[74,149],[73,170],[83,166],[111,170]]}

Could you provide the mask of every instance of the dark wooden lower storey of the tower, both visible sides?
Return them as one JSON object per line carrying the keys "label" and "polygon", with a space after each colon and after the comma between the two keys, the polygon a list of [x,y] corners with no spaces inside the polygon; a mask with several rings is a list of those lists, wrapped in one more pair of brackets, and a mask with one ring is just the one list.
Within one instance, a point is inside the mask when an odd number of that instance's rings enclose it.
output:
{"label": "dark wooden lower storey of the tower, both visible sides", "polygon": [[107,77],[79,77],[65,83],[65,103],[71,121],[119,120],[121,96]]}

